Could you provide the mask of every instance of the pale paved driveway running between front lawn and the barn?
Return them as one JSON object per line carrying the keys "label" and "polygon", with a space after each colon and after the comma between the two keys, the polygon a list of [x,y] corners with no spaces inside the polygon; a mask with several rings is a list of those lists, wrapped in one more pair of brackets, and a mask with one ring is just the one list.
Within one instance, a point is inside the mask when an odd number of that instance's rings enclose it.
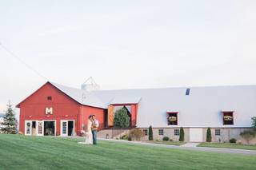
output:
{"label": "pale paved driveway running between front lawn and the barn", "polygon": [[245,149],[236,149],[236,148],[207,148],[207,147],[197,147],[198,143],[188,143],[183,144],[183,146],[174,146],[168,144],[152,144],[140,141],[127,141],[127,140],[114,140],[114,139],[98,139],[98,140],[106,140],[127,144],[141,144],[146,146],[154,146],[154,147],[162,147],[162,148],[178,148],[184,150],[193,150],[193,151],[203,151],[203,152],[218,152],[218,153],[232,153],[232,154],[243,154],[243,155],[251,155],[256,156],[256,150],[245,150]]}

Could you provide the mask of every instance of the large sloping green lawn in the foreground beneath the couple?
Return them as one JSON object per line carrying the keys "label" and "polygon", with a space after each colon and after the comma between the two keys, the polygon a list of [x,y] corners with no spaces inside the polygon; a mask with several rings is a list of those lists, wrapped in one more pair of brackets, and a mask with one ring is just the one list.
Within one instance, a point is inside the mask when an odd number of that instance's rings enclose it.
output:
{"label": "large sloping green lawn in the foreground beneath the couple", "polygon": [[256,156],[81,140],[0,135],[0,169],[256,169]]}

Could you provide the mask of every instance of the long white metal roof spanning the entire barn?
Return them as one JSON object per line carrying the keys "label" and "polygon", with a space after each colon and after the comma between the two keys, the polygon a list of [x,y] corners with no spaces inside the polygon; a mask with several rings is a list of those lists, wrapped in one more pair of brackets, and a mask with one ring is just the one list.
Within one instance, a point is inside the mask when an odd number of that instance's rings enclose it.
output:
{"label": "long white metal roof spanning the entire barn", "polygon": [[256,116],[256,85],[192,87],[186,96],[187,88],[87,92],[52,84],[82,105],[106,109],[110,104],[138,103],[139,128],[170,127],[167,111],[178,112],[177,127],[223,127],[222,111],[234,111],[234,125],[225,127],[250,127],[251,117]]}

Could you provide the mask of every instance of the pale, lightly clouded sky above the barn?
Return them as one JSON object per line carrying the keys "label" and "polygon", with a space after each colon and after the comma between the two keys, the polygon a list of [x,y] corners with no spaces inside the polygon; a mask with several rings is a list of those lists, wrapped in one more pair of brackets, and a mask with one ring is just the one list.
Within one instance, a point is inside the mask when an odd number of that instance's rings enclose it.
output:
{"label": "pale, lightly clouded sky above the barn", "polygon": [[[46,81],[101,89],[256,85],[256,1],[3,1],[0,113]],[[17,109],[18,112],[18,109]]]}

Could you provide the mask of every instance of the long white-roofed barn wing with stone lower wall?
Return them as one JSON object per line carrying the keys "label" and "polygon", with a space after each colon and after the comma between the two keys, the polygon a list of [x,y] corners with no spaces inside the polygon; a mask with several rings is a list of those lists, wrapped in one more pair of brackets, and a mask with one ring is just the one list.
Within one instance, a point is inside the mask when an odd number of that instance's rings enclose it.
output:
{"label": "long white-roofed barn wing with stone lower wall", "polygon": [[[126,89],[93,92],[105,103],[110,99],[138,102],[137,128],[154,128],[155,139],[178,140],[179,128],[186,141],[206,141],[210,127],[213,141],[241,140],[240,132],[251,127],[256,116],[256,86],[216,86],[167,89]],[[172,119],[173,121],[170,121]]]}

